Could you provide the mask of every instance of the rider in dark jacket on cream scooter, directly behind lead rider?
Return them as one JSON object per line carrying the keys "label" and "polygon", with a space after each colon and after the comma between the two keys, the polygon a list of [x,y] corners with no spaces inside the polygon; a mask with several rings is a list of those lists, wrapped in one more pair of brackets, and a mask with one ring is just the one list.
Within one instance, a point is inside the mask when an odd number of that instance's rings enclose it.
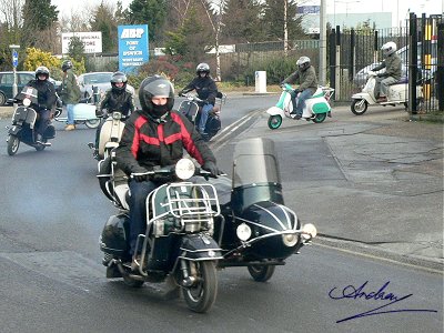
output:
{"label": "rider in dark jacket on cream scooter, directly behind lead rider", "polygon": [[[119,111],[122,113],[122,121],[125,121],[131,112],[134,111],[134,98],[132,93],[127,90],[127,75],[122,72],[115,72],[111,75],[111,89],[107,90],[103,100],[100,102],[98,109],[95,110],[95,115],[101,118],[107,118],[108,113],[113,111]],[[107,112],[103,112],[107,110]],[[102,129],[103,122],[99,124],[95,131],[95,149],[94,157],[99,153],[99,139],[100,131]]]}

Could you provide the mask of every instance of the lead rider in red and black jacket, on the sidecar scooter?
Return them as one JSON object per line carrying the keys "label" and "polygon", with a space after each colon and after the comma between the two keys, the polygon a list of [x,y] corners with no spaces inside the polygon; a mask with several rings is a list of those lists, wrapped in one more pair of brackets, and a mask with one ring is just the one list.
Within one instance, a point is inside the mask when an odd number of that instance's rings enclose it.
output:
{"label": "lead rider in red and black jacket, on the sidecar scooter", "polygon": [[132,269],[139,265],[135,242],[147,225],[147,196],[165,182],[143,173],[158,165],[176,163],[183,157],[183,150],[186,150],[212,176],[220,174],[213,152],[194,125],[184,114],[172,111],[174,88],[169,80],[160,75],[145,78],[139,89],[139,100],[142,110],[135,110],[127,120],[122,139],[115,149],[118,167],[130,176],[129,240],[130,253],[134,258]]}

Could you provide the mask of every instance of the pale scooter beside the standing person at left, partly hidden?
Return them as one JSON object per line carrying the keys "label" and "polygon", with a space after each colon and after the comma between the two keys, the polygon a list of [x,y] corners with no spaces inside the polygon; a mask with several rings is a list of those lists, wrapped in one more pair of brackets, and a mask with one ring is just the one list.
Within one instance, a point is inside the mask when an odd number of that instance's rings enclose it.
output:
{"label": "pale scooter beside the standing person at left, partly hidden", "polygon": [[[89,129],[97,129],[100,124],[100,119],[95,115],[97,103],[100,100],[100,92],[97,87],[93,87],[94,94],[89,98],[81,99],[79,103],[74,104],[73,117],[74,124],[85,124]],[[54,120],[67,122],[68,117],[61,117],[62,112],[54,113]]]}

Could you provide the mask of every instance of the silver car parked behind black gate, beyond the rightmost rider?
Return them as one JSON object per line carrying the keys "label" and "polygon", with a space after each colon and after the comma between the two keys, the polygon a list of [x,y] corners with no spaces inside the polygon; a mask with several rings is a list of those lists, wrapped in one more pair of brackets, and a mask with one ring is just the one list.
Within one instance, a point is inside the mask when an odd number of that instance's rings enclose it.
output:
{"label": "silver car parked behind black gate, beyond the rightmost rider", "polygon": [[[401,81],[406,80],[408,77],[408,46],[401,48],[400,50],[396,51],[397,54],[400,54],[401,60],[402,60],[402,67],[401,67]],[[433,80],[435,72],[436,72],[436,64],[437,64],[437,43],[436,40],[432,41],[432,59],[431,59],[431,69],[423,69],[422,67],[422,46],[421,42],[417,43],[417,68],[420,69],[418,75],[420,78],[423,78],[425,80]],[[363,88],[365,85],[365,82],[367,81],[369,77],[369,71],[371,71],[373,68],[376,65],[380,65],[381,62],[374,62],[372,64],[369,64],[361,69],[353,78],[353,83],[355,83],[359,88]],[[385,72],[385,68],[379,71],[379,73]]]}

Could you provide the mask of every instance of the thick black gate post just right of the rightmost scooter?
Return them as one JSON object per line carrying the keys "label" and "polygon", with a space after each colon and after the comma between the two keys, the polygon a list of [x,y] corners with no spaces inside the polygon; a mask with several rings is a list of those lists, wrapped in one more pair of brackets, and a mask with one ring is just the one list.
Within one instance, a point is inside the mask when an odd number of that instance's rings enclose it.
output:
{"label": "thick black gate post just right of the rightmost scooter", "polygon": [[411,114],[416,114],[417,20],[413,12],[410,13],[408,39],[408,112]]}

